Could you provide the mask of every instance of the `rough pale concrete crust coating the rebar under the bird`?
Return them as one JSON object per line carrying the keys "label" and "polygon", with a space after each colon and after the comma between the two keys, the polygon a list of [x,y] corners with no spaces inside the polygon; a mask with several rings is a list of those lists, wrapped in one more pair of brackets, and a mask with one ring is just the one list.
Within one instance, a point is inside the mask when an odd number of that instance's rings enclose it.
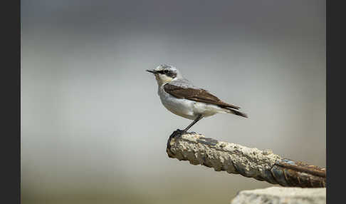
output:
{"label": "rough pale concrete crust coating the rebar under the bird", "polygon": [[201,135],[184,134],[173,138],[169,156],[179,160],[189,160],[194,165],[202,164],[216,171],[239,173],[257,178],[271,169],[282,158],[271,150],[260,151],[234,143],[225,143]]}

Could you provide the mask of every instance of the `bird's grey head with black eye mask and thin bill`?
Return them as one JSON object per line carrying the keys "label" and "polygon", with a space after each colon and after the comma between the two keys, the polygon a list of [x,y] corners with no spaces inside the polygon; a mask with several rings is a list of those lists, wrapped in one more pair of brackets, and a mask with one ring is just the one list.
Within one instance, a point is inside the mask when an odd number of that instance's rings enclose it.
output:
{"label": "bird's grey head with black eye mask and thin bill", "polygon": [[157,66],[157,68],[147,71],[154,74],[159,86],[174,79],[182,78],[182,75],[179,73],[177,68],[175,68],[174,66],[169,66],[167,64],[159,65]]}

